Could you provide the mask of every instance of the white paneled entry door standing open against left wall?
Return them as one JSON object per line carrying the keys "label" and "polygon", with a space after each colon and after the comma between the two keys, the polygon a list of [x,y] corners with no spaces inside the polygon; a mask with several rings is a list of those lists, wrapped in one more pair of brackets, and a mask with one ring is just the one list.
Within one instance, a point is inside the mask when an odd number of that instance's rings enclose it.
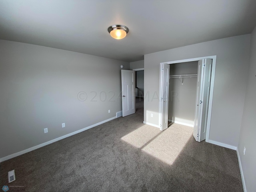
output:
{"label": "white paneled entry door standing open against left wall", "polygon": [[123,117],[135,113],[135,72],[121,70]]}

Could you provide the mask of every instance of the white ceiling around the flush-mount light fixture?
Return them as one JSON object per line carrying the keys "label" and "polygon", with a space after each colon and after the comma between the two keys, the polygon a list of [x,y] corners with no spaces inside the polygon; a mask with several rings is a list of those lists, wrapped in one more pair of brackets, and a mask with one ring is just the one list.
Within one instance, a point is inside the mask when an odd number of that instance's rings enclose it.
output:
{"label": "white ceiling around the flush-mount light fixture", "polygon": [[[114,24],[126,38],[110,37]],[[0,39],[127,62],[255,26],[256,0],[0,0]]]}

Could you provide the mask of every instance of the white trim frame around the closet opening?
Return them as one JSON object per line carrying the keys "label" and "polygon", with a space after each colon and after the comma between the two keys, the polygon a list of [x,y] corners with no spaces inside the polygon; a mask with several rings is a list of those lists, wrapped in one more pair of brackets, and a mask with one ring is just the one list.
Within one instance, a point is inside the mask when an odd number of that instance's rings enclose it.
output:
{"label": "white trim frame around the closet opening", "polygon": [[[184,62],[191,62],[191,61],[199,61],[202,59],[212,59],[212,73],[211,73],[211,83],[210,83],[210,96],[209,96],[209,106],[208,106],[208,117],[207,117],[207,126],[206,126],[206,138],[205,141],[209,141],[210,136],[210,124],[211,124],[211,116],[212,116],[212,98],[213,98],[213,91],[214,91],[214,78],[215,78],[215,68],[216,68],[216,55],[214,56],[206,56],[206,57],[198,57],[198,58],[190,58],[190,59],[182,59],[182,60],[175,60],[175,61],[168,61],[160,63],[160,78],[161,78],[161,69],[163,64],[176,64],[176,63],[184,63]],[[161,98],[162,93],[162,82],[159,82],[159,98]],[[168,95],[169,97],[169,95]],[[159,127],[161,124],[162,119],[162,101],[159,100]]]}

